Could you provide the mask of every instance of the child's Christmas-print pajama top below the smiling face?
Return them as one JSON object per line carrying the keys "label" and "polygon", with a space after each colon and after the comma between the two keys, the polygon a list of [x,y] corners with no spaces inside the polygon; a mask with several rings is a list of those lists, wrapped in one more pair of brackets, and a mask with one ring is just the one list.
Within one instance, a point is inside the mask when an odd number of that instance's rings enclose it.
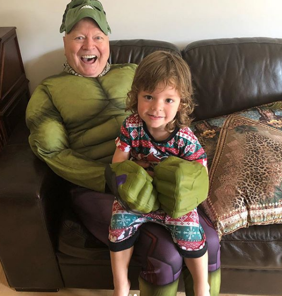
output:
{"label": "child's Christmas-print pajama top below the smiling face", "polygon": [[124,120],[115,144],[121,151],[130,152],[131,160],[143,160],[152,165],[168,156],[207,165],[206,154],[190,128],[176,128],[166,140],[158,141],[152,137],[138,114]]}

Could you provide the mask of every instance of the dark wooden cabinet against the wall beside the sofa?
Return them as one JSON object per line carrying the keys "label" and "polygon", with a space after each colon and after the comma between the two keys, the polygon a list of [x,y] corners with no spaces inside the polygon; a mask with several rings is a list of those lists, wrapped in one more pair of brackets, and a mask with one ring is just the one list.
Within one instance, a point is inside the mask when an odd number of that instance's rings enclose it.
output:
{"label": "dark wooden cabinet against the wall beside the sofa", "polygon": [[25,124],[30,99],[15,27],[0,27],[0,150],[17,124]]}

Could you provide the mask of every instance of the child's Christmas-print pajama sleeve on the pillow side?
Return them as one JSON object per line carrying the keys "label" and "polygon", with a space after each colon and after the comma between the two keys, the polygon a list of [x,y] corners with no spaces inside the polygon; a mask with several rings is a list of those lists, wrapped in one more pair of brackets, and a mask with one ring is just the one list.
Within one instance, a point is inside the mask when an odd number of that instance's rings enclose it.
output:
{"label": "child's Christmas-print pajama sleeve on the pillow side", "polygon": [[198,138],[194,135],[194,133],[187,129],[187,133],[185,138],[183,139],[183,143],[180,149],[180,157],[189,161],[197,161],[204,166],[207,166],[207,156],[201,146]]}

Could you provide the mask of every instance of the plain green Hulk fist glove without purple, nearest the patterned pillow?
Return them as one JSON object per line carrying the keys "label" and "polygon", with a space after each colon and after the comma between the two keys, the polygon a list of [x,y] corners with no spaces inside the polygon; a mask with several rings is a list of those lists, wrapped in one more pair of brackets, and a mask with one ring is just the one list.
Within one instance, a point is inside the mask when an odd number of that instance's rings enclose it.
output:
{"label": "plain green Hulk fist glove without purple, nearest the patterned pillow", "polygon": [[153,184],[160,207],[172,218],[179,218],[207,197],[208,175],[197,161],[169,156],[154,168]]}

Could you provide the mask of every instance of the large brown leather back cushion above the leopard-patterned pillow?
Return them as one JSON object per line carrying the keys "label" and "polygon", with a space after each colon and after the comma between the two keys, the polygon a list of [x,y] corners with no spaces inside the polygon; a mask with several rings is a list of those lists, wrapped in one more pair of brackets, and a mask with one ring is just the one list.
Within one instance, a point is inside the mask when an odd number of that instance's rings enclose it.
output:
{"label": "large brown leather back cushion above the leopard-patterned pillow", "polygon": [[182,57],[194,80],[196,120],[282,98],[282,39],[201,40],[183,49]]}

